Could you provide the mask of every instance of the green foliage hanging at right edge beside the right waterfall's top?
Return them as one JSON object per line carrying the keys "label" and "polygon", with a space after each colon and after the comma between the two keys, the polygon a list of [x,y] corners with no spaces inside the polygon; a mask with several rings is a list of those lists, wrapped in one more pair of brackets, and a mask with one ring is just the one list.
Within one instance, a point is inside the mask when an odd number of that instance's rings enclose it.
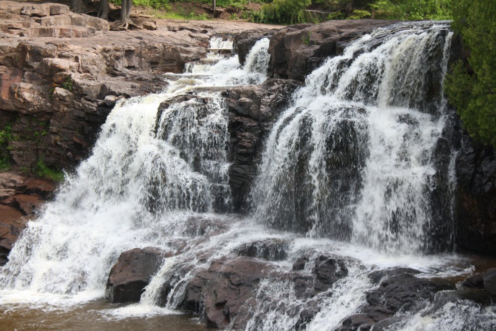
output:
{"label": "green foliage hanging at right edge beside the right waterfall's top", "polygon": [[452,25],[470,55],[468,66],[459,61],[448,75],[446,94],[470,135],[496,147],[496,1],[453,4]]}

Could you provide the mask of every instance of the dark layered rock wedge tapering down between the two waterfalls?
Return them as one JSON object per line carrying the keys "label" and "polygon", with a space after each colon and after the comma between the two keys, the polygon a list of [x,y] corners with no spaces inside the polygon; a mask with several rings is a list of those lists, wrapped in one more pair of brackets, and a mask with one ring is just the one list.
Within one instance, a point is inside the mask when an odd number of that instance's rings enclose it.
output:
{"label": "dark layered rock wedge tapering down between the two waterfalls", "polygon": [[229,110],[231,154],[228,160],[232,162],[229,185],[235,211],[246,207],[264,135],[298,86],[294,80],[267,79],[258,86],[235,87],[222,93]]}

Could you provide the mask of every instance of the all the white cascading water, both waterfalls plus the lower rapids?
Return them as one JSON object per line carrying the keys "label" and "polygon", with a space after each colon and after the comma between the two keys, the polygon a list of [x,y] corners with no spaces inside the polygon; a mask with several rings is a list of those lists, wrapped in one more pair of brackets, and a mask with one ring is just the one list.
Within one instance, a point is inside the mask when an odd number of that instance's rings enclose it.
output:
{"label": "all the white cascading water, both waterfalls plus the lower rapids", "polygon": [[[232,308],[238,315],[231,329],[335,330],[367,305],[367,293],[378,286],[373,271],[414,267],[425,278],[472,272],[457,256],[416,254],[452,243],[431,240],[452,233],[449,221],[439,220],[451,217],[453,162],[437,155],[449,154],[441,91],[450,38],[444,23],[397,24],[351,42],[309,75],[267,137],[252,191],[251,218],[269,228],[226,213],[228,114],[218,92],[266,79],[267,38],[253,46],[243,68],[236,57],[212,53],[184,74],[165,75],[170,84],[163,93],[119,103],[92,155],[28,223],[0,269],[6,316],[0,322],[21,311],[47,320],[55,314],[61,329],[117,329],[124,320],[128,330],[199,330],[196,322],[155,318],[179,314],[188,282],[214,261],[254,256],[266,270],[250,299]],[[210,48],[232,44],[215,38]],[[322,238],[329,236],[344,241]],[[140,303],[95,300],[118,256],[147,246],[171,257]],[[329,270],[336,279],[329,280]],[[235,276],[223,278],[226,291],[244,283],[243,274]],[[225,314],[218,301],[216,314]],[[436,330],[464,330],[468,323],[491,329],[493,307],[437,300],[413,314],[394,313],[389,327],[424,330],[432,321]],[[60,311],[73,311],[71,322],[82,316],[81,327],[60,324]],[[130,327],[143,320],[154,324]]]}

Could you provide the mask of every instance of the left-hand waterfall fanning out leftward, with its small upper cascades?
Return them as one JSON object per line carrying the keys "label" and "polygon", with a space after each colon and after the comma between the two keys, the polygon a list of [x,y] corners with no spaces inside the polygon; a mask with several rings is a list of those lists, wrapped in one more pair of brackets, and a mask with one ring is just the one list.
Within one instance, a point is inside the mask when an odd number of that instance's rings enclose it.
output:
{"label": "left-hand waterfall fanning out leftward, with its small upper cascades", "polygon": [[[267,48],[255,48],[248,58]],[[57,294],[103,289],[123,251],[170,249],[168,239],[186,232],[187,214],[230,210],[227,110],[220,92],[177,97],[203,86],[261,80],[266,73],[240,68],[235,56],[212,58],[215,64],[189,66],[208,79],[169,76],[163,93],[115,106],[92,155],[16,242],[0,270],[1,288]]]}

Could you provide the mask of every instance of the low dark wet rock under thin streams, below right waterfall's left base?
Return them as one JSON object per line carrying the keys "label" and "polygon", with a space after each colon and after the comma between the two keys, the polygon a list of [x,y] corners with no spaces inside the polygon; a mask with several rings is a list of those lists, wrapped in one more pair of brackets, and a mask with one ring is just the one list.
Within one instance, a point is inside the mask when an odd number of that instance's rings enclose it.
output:
{"label": "low dark wet rock under thin streams, below right waterfall's left base", "polygon": [[278,239],[259,240],[246,243],[236,249],[239,256],[264,259],[268,261],[281,261],[288,257],[286,250],[288,244]]}

